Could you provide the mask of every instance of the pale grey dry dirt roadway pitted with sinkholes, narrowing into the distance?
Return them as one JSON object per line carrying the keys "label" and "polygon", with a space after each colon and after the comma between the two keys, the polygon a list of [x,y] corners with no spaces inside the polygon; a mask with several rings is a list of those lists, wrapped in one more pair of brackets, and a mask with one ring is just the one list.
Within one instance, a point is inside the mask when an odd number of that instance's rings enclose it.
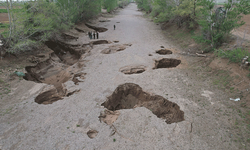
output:
{"label": "pale grey dry dirt roadway pitted with sinkholes, narrowing into the distance", "polygon": [[[232,130],[234,111],[225,105],[236,102],[192,70],[205,58],[179,55],[134,3],[108,19],[98,24],[108,28],[100,39],[119,42],[94,45],[84,58],[85,80],[75,85],[80,92],[44,105],[34,102],[43,84],[22,81],[29,91],[12,89],[1,107],[6,113],[0,118],[0,149],[244,148]],[[123,47],[114,48],[118,44]],[[161,46],[173,53],[155,53]],[[162,58],[172,59],[155,62]],[[104,114],[102,104],[118,112]]]}

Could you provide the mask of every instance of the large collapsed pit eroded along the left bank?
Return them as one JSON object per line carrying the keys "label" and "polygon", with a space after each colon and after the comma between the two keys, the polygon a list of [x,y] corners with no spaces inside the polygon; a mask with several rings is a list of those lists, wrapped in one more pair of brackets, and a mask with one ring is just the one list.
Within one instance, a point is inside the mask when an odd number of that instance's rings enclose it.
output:
{"label": "large collapsed pit eroded along the left bank", "polygon": [[51,49],[48,59],[35,66],[25,67],[27,71],[25,80],[52,85],[35,98],[35,102],[38,104],[52,104],[63,99],[64,96],[70,96],[79,91],[68,90],[64,83],[72,80],[78,84],[78,82],[82,82],[85,75],[79,73],[83,66],[79,59],[88,47],[74,48],[59,41],[47,41],[45,44]]}

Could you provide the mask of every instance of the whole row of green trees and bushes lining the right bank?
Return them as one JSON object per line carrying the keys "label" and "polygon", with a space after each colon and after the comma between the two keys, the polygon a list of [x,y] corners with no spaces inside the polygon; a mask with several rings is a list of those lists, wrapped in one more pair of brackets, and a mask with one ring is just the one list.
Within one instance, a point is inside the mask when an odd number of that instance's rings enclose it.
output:
{"label": "whole row of green trees and bushes lining the right bank", "polygon": [[215,0],[136,0],[138,8],[151,13],[155,22],[172,22],[178,27],[201,32],[194,36],[212,48],[227,40],[230,32],[244,24],[242,14],[250,14],[250,0],[228,0],[223,8],[215,7]]}

